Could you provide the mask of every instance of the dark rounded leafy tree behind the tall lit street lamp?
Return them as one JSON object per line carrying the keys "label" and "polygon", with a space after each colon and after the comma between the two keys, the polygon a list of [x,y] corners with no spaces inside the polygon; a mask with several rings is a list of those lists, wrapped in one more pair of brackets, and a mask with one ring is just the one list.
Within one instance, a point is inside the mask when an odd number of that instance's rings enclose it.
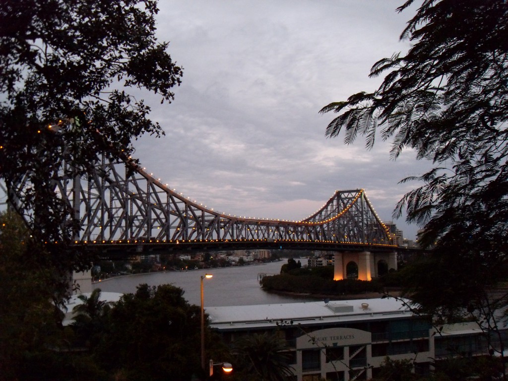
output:
{"label": "dark rounded leafy tree behind the tall lit street lamp", "polygon": [[[157,380],[202,375],[200,307],[189,304],[182,289],[140,284],[135,294],[123,295],[108,314],[109,326],[94,356],[114,377]],[[221,353],[223,344],[205,323],[206,352],[212,358],[217,350]]]}

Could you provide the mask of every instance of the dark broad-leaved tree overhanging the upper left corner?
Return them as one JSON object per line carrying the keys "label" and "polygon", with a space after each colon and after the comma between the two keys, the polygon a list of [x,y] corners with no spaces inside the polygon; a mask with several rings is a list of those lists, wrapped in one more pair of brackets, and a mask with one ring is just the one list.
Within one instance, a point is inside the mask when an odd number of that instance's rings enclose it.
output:
{"label": "dark broad-leaved tree overhanging the upper left corner", "polygon": [[62,273],[90,261],[65,247],[77,225],[55,181],[164,133],[135,98],[145,89],[171,102],[180,84],[157,12],[155,0],[0,2],[0,178]]}

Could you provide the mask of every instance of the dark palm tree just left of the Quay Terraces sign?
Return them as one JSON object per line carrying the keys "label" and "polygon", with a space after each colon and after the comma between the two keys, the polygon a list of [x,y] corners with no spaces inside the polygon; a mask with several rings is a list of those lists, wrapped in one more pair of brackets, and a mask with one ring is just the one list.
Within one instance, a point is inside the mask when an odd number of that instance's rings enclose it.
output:
{"label": "dark palm tree just left of the Quay Terraces sign", "polygon": [[235,345],[238,363],[243,370],[255,374],[260,381],[283,381],[293,374],[288,365],[285,341],[274,334],[253,334],[238,340]]}

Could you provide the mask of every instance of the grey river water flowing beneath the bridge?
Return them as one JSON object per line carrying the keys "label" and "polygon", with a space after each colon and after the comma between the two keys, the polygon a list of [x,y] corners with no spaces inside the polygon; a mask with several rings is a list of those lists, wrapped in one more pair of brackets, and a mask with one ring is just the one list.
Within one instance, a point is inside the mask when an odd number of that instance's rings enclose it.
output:
{"label": "grey river water flowing beneath the bridge", "polygon": [[[296,261],[301,261],[302,265],[307,263],[306,258],[296,259]],[[135,293],[136,287],[142,283],[147,283],[150,286],[173,284],[185,292],[183,296],[188,302],[200,305],[201,276],[208,273],[213,277],[203,280],[205,306],[280,304],[316,300],[271,294],[261,289],[259,274],[279,274],[280,267],[284,263],[287,263],[286,260],[260,265],[121,276],[96,282],[93,284],[93,288],[100,288],[104,292]]]}

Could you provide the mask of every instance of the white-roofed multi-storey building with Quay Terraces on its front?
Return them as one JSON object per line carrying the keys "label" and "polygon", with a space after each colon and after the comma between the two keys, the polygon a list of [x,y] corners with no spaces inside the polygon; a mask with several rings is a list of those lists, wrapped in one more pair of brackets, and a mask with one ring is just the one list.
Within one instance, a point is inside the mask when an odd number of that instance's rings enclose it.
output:
{"label": "white-roofed multi-storey building with Quay Terraces on its front", "polygon": [[263,332],[287,340],[296,381],[369,379],[387,356],[409,359],[416,372],[426,373],[433,359],[457,353],[450,351],[487,354],[475,323],[444,326],[436,334],[394,298],[207,307],[206,312],[227,342]]}

